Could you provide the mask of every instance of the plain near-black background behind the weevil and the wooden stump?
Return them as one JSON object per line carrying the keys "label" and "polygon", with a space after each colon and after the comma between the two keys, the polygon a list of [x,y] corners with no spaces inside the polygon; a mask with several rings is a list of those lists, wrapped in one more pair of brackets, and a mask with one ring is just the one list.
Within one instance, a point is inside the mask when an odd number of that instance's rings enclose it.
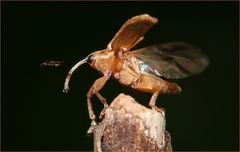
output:
{"label": "plain near-black background behind the weevil and the wooden stump", "polygon": [[[2,150],[93,150],[86,93],[100,75],[85,65],[62,93],[68,70],[104,49],[130,17],[148,13],[159,24],[139,47],[184,41],[210,58],[201,74],[176,82],[181,95],[162,95],[174,150],[238,150],[237,2],[2,2]],[[41,68],[45,60],[64,67]],[[108,103],[120,92],[143,94],[110,80],[101,91]],[[94,111],[102,109],[93,98]]]}

